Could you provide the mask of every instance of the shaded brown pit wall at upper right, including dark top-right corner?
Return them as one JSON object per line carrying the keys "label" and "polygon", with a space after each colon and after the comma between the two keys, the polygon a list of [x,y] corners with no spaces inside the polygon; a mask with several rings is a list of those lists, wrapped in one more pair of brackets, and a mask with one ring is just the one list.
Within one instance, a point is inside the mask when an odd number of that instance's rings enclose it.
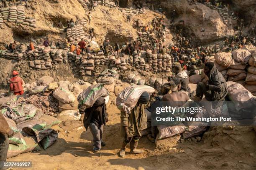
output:
{"label": "shaded brown pit wall at upper right, including dark top-right corner", "polygon": [[[145,2],[152,3],[155,10],[161,7],[166,13],[166,18],[170,20],[175,10],[174,24],[180,27],[180,21],[184,21],[185,34],[194,36],[200,45],[208,45],[233,36],[233,29],[238,26],[236,18],[231,16],[233,12],[237,12],[239,18],[244,20],[245,32],[249,32],[256,25],[255,0],[223,0],[227,8],[209,7],[210,5],[199,2],[189,3],[188,0],[130,0],[131,2],[140,6]],[[120,0],[120,4],[127,7],[127,0]],[[201,28],[205,29],[205,33],[200,32]]]}

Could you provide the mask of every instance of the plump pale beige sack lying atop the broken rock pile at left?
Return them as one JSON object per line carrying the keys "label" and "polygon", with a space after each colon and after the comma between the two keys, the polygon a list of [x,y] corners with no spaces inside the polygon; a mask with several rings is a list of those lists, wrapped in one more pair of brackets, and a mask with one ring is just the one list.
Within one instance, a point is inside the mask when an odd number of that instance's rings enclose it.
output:
{"label": "plump pale beige sack lying atop the broken rock pile at left", "polygon": [[73,103],[76,100],[74,94],[67,87],[56,88],[52,95],[64,104]]}

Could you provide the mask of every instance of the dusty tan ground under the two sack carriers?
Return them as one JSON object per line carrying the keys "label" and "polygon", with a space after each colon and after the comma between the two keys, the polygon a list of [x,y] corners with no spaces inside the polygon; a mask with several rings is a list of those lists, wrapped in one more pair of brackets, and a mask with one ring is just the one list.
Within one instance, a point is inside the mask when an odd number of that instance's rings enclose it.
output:
{"label": "dusty tan ground under the two sack carriers", "polygon": [[[110,121],[104,129],[106,146],[101,153],[92,153],[92,135],[84,128],[63,130],[57,142],[47,150],[25,153],[8,161],[32,161],[33,170],[253,170],[256,168],[256,133],[251,127],[215,127],[205,133],[200,143],[176,143],[164,148],[155,147],[146,137],[139,148],[143,154],[126,157],[117,153],[120,111],[111,105]],[[15,168],[14,168],[15,169]],[[28,168],[27,168],[28,169]],[[23,170],[19,168],[19,170]]]}

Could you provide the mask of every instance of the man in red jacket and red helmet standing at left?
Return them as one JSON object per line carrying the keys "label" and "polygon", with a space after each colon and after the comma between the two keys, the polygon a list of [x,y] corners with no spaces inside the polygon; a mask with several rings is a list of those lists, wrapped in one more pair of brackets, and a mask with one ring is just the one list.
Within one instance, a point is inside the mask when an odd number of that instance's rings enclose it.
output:
{"label": "man in red jacket and red helmet standing at left", "polygon": [[22,78],[18,76],[18,72],[16,70],[13,71],[13,77],[11,77],[9,81],[10,91],[14,92],[14,95],[23,95],[24,90],[22,85],[25,83]]}

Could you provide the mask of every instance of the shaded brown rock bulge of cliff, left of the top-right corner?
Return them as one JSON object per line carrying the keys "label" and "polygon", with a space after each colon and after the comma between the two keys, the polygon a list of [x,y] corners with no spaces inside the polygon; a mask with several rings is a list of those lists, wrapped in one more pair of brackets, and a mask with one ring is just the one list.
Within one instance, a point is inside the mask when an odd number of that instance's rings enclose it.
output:
{"label": "shaded brown rock bulge of cliff, left of the top-right corner", "polygon": [[[168,0],[161,1],[161,6],[176,10],[175,23],[184,20],[184,26],[202,43],[210,43],[234,34],[231,23],[224,24],[217,10],[212,10],[201,3],[189,4],[187,0]],[[205,32],[201,32],[201,29]]]}

